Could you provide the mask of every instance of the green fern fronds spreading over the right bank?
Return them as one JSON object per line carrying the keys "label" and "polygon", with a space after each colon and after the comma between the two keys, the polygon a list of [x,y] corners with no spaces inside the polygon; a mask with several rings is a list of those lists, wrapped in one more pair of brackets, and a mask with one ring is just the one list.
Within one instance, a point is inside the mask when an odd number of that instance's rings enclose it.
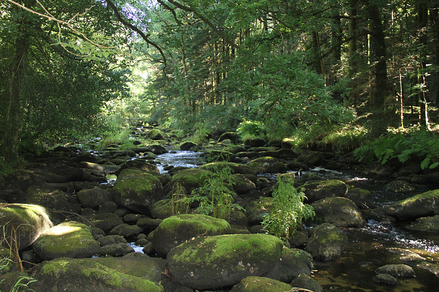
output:
{"label": "green fern fronds spreading over the right bank", "polygon": [[404,163],[416,157],[420,159],[420,168],[432,169],[439,166],[439,136],[425,130],[388,133],[357,148],[354,153],[359,161],[371,162],[376,158],[383,164],[390,159]]}

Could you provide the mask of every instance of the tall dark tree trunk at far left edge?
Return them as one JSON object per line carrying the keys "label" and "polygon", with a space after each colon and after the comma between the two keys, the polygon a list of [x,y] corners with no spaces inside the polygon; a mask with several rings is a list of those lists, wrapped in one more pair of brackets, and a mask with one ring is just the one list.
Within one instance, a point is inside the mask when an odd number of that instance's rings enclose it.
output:
{"label": "tall dark tree trunk at far left edge", "polygon": [[[25,1],[29,6],[30,1]],[[21,109],[21,99],[23,90],[23,71],[25,68],[25,59],[29,49],[29,27],[27,25],[27,13],[21,8],[14,5],[16,15],[21,15],[17,21],[17,35],[14,47],[14,57],[10,64],[10,78],[8,80],[8,90],[5,96],[4,128],[3,128],[3,154],[7,161],[16,158],[16,150],[19,143],[19,116]]]}

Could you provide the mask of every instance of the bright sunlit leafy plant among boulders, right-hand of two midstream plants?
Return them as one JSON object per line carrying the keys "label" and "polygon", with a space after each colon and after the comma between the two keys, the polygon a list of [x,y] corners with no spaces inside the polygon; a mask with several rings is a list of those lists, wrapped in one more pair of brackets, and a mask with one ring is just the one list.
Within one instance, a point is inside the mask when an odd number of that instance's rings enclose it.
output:
{"label": "bright sunlit leafy plant among boulders, right-hand of two midstream plants", "polygon": [[309,204],[304,204],[305,194],[297,191],[292,178],[278,178],[270,202],[270,213],[263,218],[263,230],[276,237],[293,235],[302,220],[316,214]]}

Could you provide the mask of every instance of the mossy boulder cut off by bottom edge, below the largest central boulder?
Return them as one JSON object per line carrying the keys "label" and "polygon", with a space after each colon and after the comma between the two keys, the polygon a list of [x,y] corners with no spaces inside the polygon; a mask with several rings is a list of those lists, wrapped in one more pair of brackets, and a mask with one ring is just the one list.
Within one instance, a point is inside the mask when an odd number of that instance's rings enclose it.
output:
{"label": "mossy boulder cut off by bottom edge, below the largest central boulder", "polygon": [[291,291],[289,284],[265,277],[248,276],[233,286],[230,292],[280,292]]}

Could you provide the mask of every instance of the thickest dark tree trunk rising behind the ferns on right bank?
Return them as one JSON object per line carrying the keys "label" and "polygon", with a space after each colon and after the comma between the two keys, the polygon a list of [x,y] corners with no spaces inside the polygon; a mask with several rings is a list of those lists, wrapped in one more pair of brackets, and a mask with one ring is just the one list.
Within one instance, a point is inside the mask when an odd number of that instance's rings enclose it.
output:
{"label": "thickest dark tree trunk rising behind the ferns on right bank", "polygon": [[370,106],[379,109],[385,105],[389,93],[384,30],[377,4],[369,1],[366,9],[370,21],[370,61],[375,77]]}

